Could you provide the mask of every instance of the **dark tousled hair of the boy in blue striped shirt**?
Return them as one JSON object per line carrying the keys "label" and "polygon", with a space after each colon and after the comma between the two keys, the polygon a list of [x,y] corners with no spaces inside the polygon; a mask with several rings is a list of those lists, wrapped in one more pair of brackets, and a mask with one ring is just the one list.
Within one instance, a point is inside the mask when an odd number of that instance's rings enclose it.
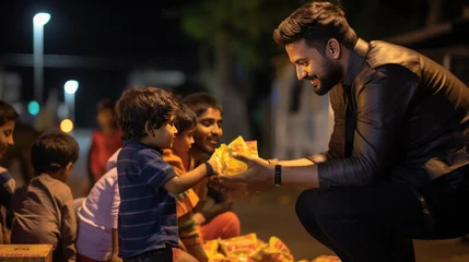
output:
{"label": "dark tousled hair of the boy in blue striped shirt", "polygon": [[178,109],[177,102],[164,90],[156,87],[130,87],[124,91],[116,105],[117,122],[124,140],[146,136],[145,123],[160,129]]}

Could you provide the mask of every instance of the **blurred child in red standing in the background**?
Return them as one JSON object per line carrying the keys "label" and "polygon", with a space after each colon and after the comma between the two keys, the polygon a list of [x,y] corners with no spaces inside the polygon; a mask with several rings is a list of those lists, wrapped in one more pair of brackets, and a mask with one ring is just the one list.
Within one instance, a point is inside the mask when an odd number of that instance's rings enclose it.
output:
{"label": "blurred child in red standing in the background", "polygon": [[113,100],[103,99],[97,104],[96,120],[99,129],[92,134],[89,155],[92,184],[106,172],[107,159],[122,146],[121,132],[117,128],[115,103]]}

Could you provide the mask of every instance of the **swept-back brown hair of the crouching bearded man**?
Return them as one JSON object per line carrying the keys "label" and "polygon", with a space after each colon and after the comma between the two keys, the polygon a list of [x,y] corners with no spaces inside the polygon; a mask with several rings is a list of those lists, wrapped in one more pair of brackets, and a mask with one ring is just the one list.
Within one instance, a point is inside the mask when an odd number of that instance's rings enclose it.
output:
{"label": "swept-back brown hair of the crouching bearded man", "polygon": [[353,49],[359,39],[347,22],[342,8],[330,2],[303,4],[273,31],[273,40],[280,46],[305,39],[307,46],[315,47],[321,53],[330,38],[348,49]]}

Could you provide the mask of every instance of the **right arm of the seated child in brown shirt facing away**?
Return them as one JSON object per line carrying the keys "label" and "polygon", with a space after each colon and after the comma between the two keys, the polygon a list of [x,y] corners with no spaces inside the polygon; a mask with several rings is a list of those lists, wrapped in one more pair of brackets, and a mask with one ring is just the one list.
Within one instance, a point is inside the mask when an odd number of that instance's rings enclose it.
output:
{"label": "right arm of the seated child in brown shirt facing away", "polygon": [[62,221],[60,236],[63,258],[66,261],[72,262],[77,260],[77,218],[73,205],[73,196],[70,189],[68,187],[67,189],[68,193],[63,194],[66,195],[66,200],[63,202],[63,206],[61,207]]}

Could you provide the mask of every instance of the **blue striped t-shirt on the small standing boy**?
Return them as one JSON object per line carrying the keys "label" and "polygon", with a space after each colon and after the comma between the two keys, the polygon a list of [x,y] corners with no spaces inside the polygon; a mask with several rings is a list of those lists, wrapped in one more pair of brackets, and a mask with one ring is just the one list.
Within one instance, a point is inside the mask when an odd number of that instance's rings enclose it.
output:
{"label": "blue striped t-shirt on the small standing boy", "polygon": [[117,172],[119,257],[127,259],[166,245],[177,247],[176,200],[163,188],[176,174],[162,152],[125,141]]}

